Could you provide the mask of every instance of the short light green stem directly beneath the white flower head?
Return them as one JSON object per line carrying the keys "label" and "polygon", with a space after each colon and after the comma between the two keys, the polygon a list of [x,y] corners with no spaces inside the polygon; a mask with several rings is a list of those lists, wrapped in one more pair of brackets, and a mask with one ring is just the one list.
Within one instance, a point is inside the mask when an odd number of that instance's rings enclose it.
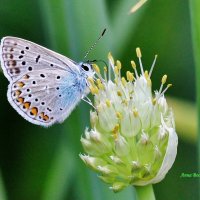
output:
{"label": "short light green stem directly beneath the white flower head", "polygon": [[136,194],[137,194],[137,200],[155,200],[155,195],[153,192],[153,186],[152,185],[146,185],[146,186],[136,186],[135,187]]}

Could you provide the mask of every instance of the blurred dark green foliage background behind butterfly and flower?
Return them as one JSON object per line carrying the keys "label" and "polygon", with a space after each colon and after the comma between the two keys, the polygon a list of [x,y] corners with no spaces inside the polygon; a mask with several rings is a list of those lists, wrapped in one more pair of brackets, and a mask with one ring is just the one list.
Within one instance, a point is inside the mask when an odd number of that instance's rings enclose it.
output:
{"label": "blurred dark green foliage background behind butterfly and flower", "polygon": [[[109,51],[124,71],[141,47],[147,69],[158,61],[153,88],[168,74],[167,92],[175,110],[178,154],[166,178],[154,191],[159,200],[198,199],[195,77],[189,2],[148,1],[135,14],[134,0],[0,0],[0,37],[31,40],[81,61],[104,28],[107,32],[89,59],[107,59]],[[80,137],[89,126],[90,107],[81,102],[59,125],[42,128],[24,120],[9,105],[8,81],[0,73],[0,200],[134,199],[129,187],[114,194],[79,158]],[[4,193],[5,192],[5,193]]]}

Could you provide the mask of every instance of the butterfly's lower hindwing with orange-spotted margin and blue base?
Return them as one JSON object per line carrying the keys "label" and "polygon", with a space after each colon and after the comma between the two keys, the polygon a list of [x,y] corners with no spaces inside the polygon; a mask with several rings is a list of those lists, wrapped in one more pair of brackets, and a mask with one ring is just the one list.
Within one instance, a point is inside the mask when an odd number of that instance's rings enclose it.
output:
{"label": "butterfly's lower hindwing with orange-spotted margin and blue base", "polygon": [[10,83],[8,100],[26,120],[42,126],[62,122],[82,98],[86,84],[75,74],[45,69]]}

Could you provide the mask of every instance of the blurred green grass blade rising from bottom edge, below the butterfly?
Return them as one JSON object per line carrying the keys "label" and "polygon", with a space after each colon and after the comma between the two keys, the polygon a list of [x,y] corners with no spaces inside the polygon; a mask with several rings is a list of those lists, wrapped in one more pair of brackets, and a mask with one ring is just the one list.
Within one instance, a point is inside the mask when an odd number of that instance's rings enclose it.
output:
{"label": "blurred green grass blade rising from bottom edge, below the butterfly", "polygon": [[64,199],[70,187],[74,172],[74,154],[62,140],[58,146],[57,154],[50,166],[46,184],[41,199]]}

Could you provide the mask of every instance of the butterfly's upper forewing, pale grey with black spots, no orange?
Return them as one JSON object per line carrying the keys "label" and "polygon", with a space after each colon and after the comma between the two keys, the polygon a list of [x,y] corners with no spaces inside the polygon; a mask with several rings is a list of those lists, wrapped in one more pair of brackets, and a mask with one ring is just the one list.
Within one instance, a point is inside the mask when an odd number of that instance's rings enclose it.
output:
{"label": "butterfly's upper forewing, pale grey with black spots, no orange", "polygon": [[69,58],[33,42],[4,37],[0,49],[1,66],[9,81],[22,75],[42,69],[63,69],[78,72],[76,63]]}

